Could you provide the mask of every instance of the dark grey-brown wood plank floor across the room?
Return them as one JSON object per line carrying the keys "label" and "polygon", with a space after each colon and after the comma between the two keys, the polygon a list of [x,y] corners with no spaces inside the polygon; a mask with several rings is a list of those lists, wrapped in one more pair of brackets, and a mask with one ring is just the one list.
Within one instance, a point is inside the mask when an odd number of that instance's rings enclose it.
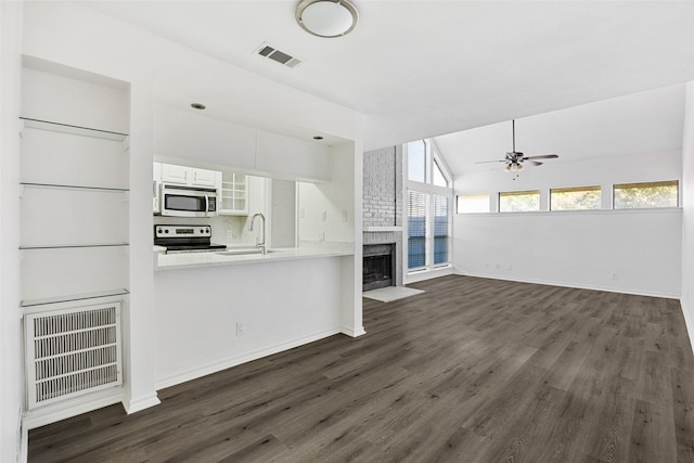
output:
{"label": "dark grey-brown wood plank floor across the room", "polygon": [[694,462],[677,300],[466,276],[337,335],[29,434],[31,462]]}

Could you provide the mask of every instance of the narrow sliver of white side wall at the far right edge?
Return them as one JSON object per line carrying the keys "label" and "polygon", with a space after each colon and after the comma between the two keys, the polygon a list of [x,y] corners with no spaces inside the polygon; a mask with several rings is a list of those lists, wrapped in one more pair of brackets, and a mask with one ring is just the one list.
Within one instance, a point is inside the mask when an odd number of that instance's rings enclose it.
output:
{"label": "narrow sliver of white side wall at the far right edge", "polygon": [[[694,339],[694,81],[686,86],[682,140],[682,309]],[[694,342],[692,343],[694,345]]]}

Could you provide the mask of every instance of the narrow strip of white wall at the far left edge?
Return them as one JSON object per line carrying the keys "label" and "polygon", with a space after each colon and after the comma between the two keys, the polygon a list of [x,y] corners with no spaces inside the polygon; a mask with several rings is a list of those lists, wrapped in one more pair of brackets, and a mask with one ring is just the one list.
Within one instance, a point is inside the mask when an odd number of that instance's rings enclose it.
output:
{"label": "narrow strip of white wall at the far left edge", "polygon": [[17,432],[24,409],[20,318],[18,116],[21,2],[0,2],[0,461],[26,458]]}

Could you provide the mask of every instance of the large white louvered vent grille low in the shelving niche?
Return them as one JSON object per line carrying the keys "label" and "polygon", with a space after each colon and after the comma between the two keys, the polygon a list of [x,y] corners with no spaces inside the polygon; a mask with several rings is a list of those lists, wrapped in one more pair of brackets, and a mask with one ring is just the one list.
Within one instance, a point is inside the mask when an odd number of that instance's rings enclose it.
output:
{"label": "large white louvered vent grille low in the shelving niche", "polygon": [[25,318],[28,408],[123,384],[120,303]]}

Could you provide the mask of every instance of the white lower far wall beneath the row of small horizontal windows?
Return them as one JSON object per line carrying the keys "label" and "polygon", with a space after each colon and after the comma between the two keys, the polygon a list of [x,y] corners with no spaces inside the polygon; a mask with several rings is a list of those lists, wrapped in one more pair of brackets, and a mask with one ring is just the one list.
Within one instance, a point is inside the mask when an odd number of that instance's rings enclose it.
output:
{"label": "white lower far wall beneath the row of small horizontal windows", "polygon": [[461,214],[453,227],[464,274],[680,297],[678,209]]}

